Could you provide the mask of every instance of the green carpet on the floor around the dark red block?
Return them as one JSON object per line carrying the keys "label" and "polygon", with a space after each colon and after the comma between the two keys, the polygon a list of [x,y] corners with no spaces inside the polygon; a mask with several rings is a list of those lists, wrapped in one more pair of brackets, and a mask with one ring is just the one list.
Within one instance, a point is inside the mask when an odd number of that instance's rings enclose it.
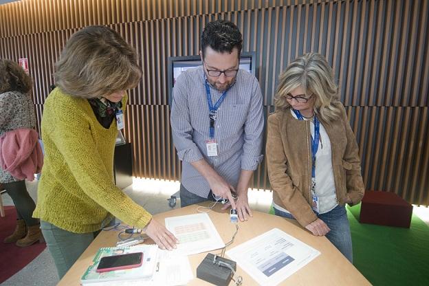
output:
{"label": "green carpet on the floor around the dark red block", "polygon": [[[359,222],[360,204],[347,208],[353,264],[373,285],[429,285],[429,226],[412,215],[411,227]],[[274,214],[271,208],[270,214]]]}

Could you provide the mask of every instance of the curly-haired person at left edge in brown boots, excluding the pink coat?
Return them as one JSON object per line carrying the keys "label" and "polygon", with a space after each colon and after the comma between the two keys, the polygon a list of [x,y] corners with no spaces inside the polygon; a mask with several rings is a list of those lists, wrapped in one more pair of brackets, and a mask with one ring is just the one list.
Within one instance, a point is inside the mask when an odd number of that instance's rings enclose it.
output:
{"label": "curly-haired person at left edge in brown boots, excluding the pink coat", "polygon": [[[18,63],[0,59],[0,137],[17,129],[34,129],[31,89],[32,79]],[[0,184],[12,197],[18,217],[17,227],[3,242],[24,247],[43,240],[39,219],[32,217],[36,205],[28,194],[25,180],[0,166]]]}

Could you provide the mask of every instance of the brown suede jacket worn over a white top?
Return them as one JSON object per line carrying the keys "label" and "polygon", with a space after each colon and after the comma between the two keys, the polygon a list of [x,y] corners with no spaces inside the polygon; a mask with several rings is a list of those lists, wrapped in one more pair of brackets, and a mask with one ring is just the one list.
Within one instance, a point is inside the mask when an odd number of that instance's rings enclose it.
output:
{"label": "brown suede jacket worn over a white top", "polygon": [[[346,111],[338,120],[323,124],[331,140],[333,177],[338,202],[351,199],[351,205],[364,196],[360,157],[355,135]],[[304,227],[316,221],[311,209],[310,122],[297,120],[289,108],[268,117],[266,158],[268,176],[274,190],[274,203],[288,210]]]}

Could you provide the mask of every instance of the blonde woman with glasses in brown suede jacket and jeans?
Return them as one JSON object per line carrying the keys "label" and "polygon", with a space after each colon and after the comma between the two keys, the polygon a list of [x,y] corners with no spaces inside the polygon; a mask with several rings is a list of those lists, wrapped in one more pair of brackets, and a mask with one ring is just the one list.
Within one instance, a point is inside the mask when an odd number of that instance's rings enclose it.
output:
{"label": "blonde woman with glasses in brown suede jacket and jeans", "polygon": [[345,203],[364,195],[355,135],[326,59],[305,54],[279,78],[266,156],[274,212],[296,219],[353,260]]}

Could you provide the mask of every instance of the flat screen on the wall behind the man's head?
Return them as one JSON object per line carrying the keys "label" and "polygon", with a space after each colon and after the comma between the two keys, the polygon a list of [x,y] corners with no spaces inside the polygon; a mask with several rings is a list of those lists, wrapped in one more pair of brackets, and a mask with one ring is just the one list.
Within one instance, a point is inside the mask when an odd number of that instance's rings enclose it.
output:
{"label": "flat screen on the wall behind the man's head", "polygon": [[[173,100],[173,87],[176,79],[181,72],[186,69],[193,69],[202,65],[199,56],[170,56],[168,58],[168,102],[171,106]],[[242,52],[240,55],[240,69],[256,74],[256,53],[255,52]]]}

